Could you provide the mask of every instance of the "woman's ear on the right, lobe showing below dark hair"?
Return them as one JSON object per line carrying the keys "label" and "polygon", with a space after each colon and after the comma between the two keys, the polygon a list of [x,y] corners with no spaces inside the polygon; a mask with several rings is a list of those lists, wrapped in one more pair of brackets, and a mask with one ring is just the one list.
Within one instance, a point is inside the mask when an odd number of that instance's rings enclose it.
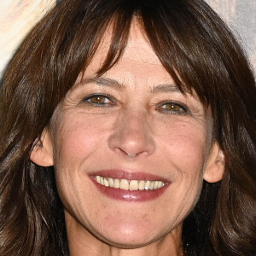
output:
{"label": "woman's ear on the right, lobe showing below dark hair", "polygon": [[225,158],[223,151],[219,148],[218,143],[213,143],[210,153],[207,157],[205,166],[204,179],[208,183],[220,181],[224,175]]}

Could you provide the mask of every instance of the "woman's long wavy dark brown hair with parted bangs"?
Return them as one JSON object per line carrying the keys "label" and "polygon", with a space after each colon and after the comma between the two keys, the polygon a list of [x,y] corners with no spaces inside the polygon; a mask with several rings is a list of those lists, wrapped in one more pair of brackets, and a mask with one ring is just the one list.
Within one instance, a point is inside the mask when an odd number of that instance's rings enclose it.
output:
{"label": "woman's long wavy dark brown hair with parted bangs", "polygon": [[[0,98],[0,255],[68,255],[54,167],[30,160],[35,142],[113,28],[98,74],[123,54],[137,17],[180,90],[212,109],[224,177],[204,182],[183,222],[186,255],[255,255],[256,86],[247,58],[202,0],[64,0],[35,26],[11,61]],[[178,74],[178,76],[177,76]]]}

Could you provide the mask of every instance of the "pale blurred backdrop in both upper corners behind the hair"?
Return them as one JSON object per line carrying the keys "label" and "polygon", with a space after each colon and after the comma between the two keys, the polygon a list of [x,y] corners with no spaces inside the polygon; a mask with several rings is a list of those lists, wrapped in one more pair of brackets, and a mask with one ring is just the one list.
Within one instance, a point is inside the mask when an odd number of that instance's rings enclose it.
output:
{"label": "pale blurred backdrop in both upper corners behind the hair", "polygon": [[[256,73],[256,0],[206,1],[239,35]],[[54,4],[55,0],[0,0],[0,79],[26,33]]]}

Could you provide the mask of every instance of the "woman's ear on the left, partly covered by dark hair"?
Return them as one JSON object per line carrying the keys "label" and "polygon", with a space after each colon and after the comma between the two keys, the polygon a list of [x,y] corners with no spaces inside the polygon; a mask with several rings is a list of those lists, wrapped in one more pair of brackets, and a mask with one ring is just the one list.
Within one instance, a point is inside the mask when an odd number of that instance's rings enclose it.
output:
{"label": "woman's ear on the left, partly covered by dark hair", "polygon": [[38,166],[53,166],[53,144],[49,131],[44,130],[38,142],[33,146],[30,160]]}

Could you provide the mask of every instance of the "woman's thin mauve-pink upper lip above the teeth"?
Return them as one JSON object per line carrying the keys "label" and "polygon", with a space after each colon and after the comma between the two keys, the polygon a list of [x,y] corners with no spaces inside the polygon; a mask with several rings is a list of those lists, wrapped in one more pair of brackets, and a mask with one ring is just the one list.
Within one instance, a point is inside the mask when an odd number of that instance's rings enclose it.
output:
{"label": "woman's thin mauve-pink upper lip above the teeth", "polygon": [[99,170],[96,172],[90,172],[90,176],[103,176],[103,177],[113,177],[119,179],[127,180],[150,180],[150,181],[163,181],[165,183],[170,183],[165,177],[159,175],[154,175],[148,172],[137,172],[137,171],[127,171],[123,169],[106,169]]}

